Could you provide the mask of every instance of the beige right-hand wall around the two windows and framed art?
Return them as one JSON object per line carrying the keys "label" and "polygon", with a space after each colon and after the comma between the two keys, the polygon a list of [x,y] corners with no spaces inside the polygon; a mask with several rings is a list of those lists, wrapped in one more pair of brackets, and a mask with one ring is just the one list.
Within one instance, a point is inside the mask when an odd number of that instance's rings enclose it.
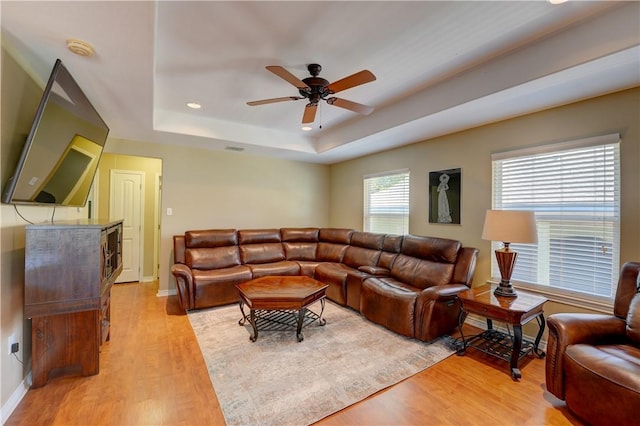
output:
{"label": "beige right-hand wall around the two windows and framed art", "polygon": [[[331,166],[331,225],[362,229],[362,177],[408,168],[409,231],[461,240],[480,250],[474,284],[490,277],[491,247],[480,238],[491,208],[491,154],[618,132],[621,135],[621,262],[640,260],[640,88],[434,138]],[[462,169],[461,224],[428,221],[428,173]],[[549,303],[547,314],[582,311]]]}

